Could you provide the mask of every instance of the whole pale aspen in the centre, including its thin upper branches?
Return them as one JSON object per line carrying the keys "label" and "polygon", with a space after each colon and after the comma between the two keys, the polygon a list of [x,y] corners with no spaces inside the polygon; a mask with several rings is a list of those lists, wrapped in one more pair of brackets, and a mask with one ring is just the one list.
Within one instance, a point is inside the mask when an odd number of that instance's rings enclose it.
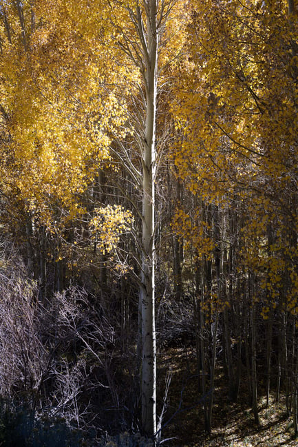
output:
{"label": "whole pale aspen in the centre, including its thin upper branches", "polygon": [[[167,83],[164,72],[177,59],[182,45],[178,15],[183,16],[184,2],[175,0],[136,0],[123,6],[110,1],[111,20],[116,30],[115,41],[138,76],[131,79],[127,100],[130,110],[134,156],[129,156],[125,142],[119,141],[115,158],[123,164],[136,189],[142,196],[142,210],[135,204],[142,221],[137,241],[140,260],[140,309],[142,325],[142,429],[155,437],[156,424],[156,329],[155,329],[155,269],[156,220],[155,183],[158,158],[163,138],[158,138],[158,97],[161,84]],[[174,10],[174,6],[177,8]],[[179,10],[180,9],[180,10]],[[121,15],[122,14],[122,15]],[[119,18],[122,17],[122,21]],[[171,20],[170,20],[171,19]],[[134,162],[132,161],[134,158]]]}

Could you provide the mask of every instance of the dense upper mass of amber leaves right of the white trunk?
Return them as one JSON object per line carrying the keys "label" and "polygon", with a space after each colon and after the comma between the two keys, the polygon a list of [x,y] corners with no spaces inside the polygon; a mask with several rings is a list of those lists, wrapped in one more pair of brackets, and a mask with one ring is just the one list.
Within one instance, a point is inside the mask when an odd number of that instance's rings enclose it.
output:
{"label": "dense upper mass of amber leaves right of the white trunk", "polygon": [[211,200],[223,184],[233,191],[239,183],[253,187],[251,176],[278,178],[289,167],[288,175],[295,174],[297,57],[291,45],[298,20],[289,25],[286,2],[275,3],[191,2],[189,57],[180,65],[172,103],[180,133],[173,152],[189,188],[195,194],[209,188]]}

